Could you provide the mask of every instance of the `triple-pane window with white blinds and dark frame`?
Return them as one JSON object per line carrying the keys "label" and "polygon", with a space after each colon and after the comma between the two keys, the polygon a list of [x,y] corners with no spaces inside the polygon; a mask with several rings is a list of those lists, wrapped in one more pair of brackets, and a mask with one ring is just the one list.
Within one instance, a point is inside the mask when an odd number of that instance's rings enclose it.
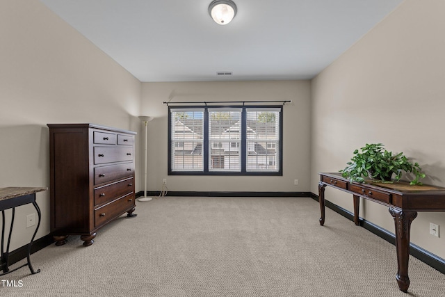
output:
{"label": "triple-pane window with white blinds and dark frame", "polygon": [[169,175],[282,175],[282,106],[169,107]]}

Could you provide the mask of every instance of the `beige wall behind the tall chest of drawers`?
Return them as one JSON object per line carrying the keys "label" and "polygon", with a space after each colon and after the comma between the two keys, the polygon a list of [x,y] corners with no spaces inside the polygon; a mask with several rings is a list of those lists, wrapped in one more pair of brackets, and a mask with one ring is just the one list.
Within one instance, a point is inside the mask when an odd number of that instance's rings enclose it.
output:
{"label": "beige wall behind the tall chest of drawers", "polygon": [[[140,132],[140,81],[42,3],[0,1],[0,36],[0,187],[49,186],[47,123]],[[49,234],[49,191],[37,200],[40,238]],[[10,250],[31,239],[33,212],[17,208]]]}

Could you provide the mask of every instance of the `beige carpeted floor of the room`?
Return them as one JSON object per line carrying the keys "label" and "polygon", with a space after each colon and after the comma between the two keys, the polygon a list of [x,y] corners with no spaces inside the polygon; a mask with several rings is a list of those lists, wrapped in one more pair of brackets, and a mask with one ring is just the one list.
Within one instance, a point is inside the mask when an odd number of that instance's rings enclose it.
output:
{"label": "beige carpeted floor of the room", "polygon": [[[445,296],[445,275],[410,257],[398,290],[396,249],[311,198],[165,197],[138,202],[97,232],[51,245],[1,280],[1,296]],[[22,262],[20,262],[22,263]],[[17,264],[16,264],[17,265]]]}

